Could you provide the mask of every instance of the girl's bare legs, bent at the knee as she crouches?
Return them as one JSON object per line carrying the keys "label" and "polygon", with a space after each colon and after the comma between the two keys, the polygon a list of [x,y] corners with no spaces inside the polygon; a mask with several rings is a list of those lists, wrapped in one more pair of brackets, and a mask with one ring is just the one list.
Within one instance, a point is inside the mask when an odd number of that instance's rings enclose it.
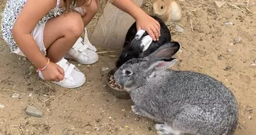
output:
{"label": "girl's bare legs, bent at the knee as she crouches", "polygon": [[80,16],[78,12],[69,12],[52,18],[45,24],[44,46],[47,49],[47,57],[52,62],[59,62],[66,55],[78,37],[83,34],[84,27],[97,13],[98,0],[91,1],[90,5],[82,6],[86,10],[85,16]]}

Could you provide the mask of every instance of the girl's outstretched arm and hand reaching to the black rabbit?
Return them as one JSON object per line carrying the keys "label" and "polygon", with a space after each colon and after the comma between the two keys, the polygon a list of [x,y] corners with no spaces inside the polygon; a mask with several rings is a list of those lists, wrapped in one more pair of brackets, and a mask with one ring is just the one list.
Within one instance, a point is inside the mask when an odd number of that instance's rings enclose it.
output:
{"label": "girl's outstretched arm and hand reaching to the black rabbit", "polygon": [[112,5],[127,12],[130,16],[133,16],[137,21],[137,30],[144,29],[154,41],[158,39],[160,36],[160,24],[151,16],[148,16],[148,14],[140,9],[132,0],[114,0]]}

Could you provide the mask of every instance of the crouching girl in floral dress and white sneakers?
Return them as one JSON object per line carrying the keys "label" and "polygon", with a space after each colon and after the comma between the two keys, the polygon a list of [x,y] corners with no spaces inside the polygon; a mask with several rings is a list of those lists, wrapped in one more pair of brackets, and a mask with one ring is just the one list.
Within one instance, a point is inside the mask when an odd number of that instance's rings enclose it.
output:
{"label": "crouching girl in floral dress and white sneakers", "polygon": [[[81,39],[84,27],[98,11],[98,0],[7,0],[2,18],[2,37],[11,52],[26,56],[38,75],[62,87],[80,87],[86,77],[66,59],[81,64],[98,61],[96,48]],[[159,23],[132,0],[112,4],[133,16],[137,30],[157,40]],[[66,58],[66,59],[64,59]]]}

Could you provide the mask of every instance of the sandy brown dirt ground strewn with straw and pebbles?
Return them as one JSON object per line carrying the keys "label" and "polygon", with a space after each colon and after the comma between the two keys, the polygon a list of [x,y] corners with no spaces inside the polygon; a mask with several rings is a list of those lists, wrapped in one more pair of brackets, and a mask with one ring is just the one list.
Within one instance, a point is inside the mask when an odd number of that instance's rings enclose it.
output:
{"label": "sandy brown dirt ground strewn with straw and pebbles", "polygon": [[[247,8],[246,0],[225,1],[221,8],[210,0],[178,2],[183,8],[178,23],[183,32],[173,26],[170,30],[172,40],[182,44],[182,52],[176,56],[180,62],[172,69],[206,73],[225,83],[239,105],[235,134],[256,134],[256,6]],[[151,13],[151,1],[143,9]],[[92,23],[97,22],[101,11]],[[93,28],[91,24],[89,34]],[[40,80],[29,61],[10,54],[2,40],[0,44],[0,135],[156,134],[150,119],[131,112],[130,100],[108,92],[106,76],[119,51],[101,54],[90,66],[69,61],[87,75],[83,87],[69,90]],[[104,67],[109,69],[102,71]],[[14,93],[20,98],[11,98]],[[44,116],[27,115],[27,105],[40,108]]]}

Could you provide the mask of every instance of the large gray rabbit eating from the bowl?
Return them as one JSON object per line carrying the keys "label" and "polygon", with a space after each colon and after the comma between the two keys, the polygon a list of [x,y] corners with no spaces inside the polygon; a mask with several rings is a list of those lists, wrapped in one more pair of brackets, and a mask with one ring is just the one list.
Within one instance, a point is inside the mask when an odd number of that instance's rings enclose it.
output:
{"label": "large gray rabbit eating from the bowl", "polygon": [[117,69],[116,83],[130,92],[132,111],[161,123],[155,125],[161,135],[233,134],[238,120],[236,98],[211,76],[168,69],[177,62],[172,55],[179,49],[178,42],[170,42]]}

